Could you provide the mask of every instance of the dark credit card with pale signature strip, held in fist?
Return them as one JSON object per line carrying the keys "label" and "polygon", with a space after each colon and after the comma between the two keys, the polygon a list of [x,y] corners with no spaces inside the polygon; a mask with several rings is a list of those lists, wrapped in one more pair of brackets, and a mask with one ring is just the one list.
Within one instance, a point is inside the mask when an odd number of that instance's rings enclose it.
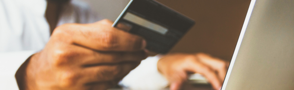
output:
{"label": "dark credit card with pale signature strip, held in fist", "polygon": [[131,0],[112,26],[118,23],[130,27],[129,33],[142,36],[149,51],[165,54],[195,21],[155,0]]}

